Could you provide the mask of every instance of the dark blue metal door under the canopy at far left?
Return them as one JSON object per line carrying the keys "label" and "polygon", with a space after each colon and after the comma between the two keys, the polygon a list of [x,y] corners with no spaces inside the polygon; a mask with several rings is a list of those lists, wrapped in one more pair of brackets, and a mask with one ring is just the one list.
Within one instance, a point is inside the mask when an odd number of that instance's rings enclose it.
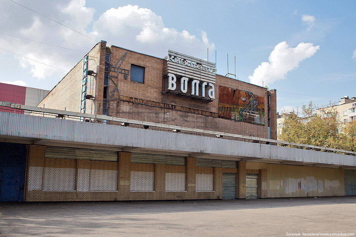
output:
{"label": "dark blue metal door under the canopy at far left", "polygon": [[1,172],[0,202],[19,202],[21,167],[3,166]]}

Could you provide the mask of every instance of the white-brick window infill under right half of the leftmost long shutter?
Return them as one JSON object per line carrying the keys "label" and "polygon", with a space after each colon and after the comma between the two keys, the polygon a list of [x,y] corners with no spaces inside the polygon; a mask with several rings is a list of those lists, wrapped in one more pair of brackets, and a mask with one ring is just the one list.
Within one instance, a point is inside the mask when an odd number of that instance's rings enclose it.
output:
{"label": "white-brick window infill under right half of the leftmost long shutter", "polygon": [[90,170],[90,191],[117,191],[117,170]]}

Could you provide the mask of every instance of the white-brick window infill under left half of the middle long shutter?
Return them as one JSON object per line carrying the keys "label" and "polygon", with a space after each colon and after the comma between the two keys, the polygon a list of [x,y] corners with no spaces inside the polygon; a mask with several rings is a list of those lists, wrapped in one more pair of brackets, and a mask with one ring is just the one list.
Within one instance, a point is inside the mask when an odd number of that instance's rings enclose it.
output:
{"label": "white-brick window infill under left half of the middle long shutter", "polygon": [[153,172],[131,171],[130,191],[153,191]]}

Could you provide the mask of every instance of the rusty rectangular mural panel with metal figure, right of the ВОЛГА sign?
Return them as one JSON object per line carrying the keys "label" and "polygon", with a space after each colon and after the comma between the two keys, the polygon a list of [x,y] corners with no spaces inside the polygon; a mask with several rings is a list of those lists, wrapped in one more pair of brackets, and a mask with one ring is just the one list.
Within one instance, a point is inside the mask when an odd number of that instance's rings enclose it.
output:
{"label": "rusty rectangular mural panel with metal figure, right of the \u0412\u041e\u041b\u0413\u0410 sign", "polygon": [[250,91],[219,86],[219,117],[265,124],[265,98]]}

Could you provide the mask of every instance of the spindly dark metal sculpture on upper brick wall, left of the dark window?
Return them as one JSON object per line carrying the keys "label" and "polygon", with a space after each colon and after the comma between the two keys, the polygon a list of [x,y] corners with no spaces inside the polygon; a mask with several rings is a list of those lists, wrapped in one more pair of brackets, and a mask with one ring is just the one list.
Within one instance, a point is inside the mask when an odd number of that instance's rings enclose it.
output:
{"label": "spindly dark metal sculpture on upper brick wall, left of the dark window", "polygon": [[[125,52],[125,54],[120,57],[120,59],[116,62],[115,66],[112,65],[110,62],[106,61],[106,63],[109,64],[109,79],[115,85],[115,89],[109,92],[111,94],[111,96],[108,100],[108,115],[109,115],[109,109],[110,109],[110,102],[119,100],[119,103],[120,103],[120,92],[119,92],[119,87],[117,86],[117,85],[119,85],[119,73],[124,74],[124,79],[127,79],[127,76],[130,75],[130,70],[121,68],[121,64],[122,64],[122,62],[124,62],[126,55],[127,55],[127,52]],[[117,66],[117,64],[119,64],[119,66]],[[116,76],[111,75],[110,72],[116,72]],[[113,77],[116,78],[116,82],[112,79]],[[117,92],[117,95],[118,95],[117,99],[112,99],[112,97],[115,95],[115,92]]]}

